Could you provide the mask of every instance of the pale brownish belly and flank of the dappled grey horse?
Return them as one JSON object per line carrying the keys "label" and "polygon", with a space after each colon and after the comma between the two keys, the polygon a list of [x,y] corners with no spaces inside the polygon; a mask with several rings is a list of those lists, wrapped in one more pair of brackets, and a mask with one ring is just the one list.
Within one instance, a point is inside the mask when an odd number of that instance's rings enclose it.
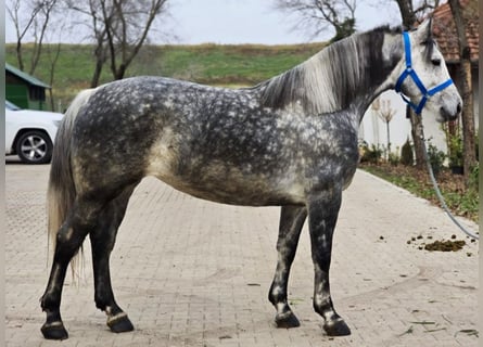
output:
{"label": "pale brownish belly and flank of the dappled grey horse", "polygon": [[[173,131],[165,129],[153,145],[147,176],[154,176],[192,196],[230,205],[270,206],[304,204],[304,184],[291,169],[255,172],[251,164],[243,167],[194,154],[181,157]],[[288,172],[289,171],[289,172]]]}

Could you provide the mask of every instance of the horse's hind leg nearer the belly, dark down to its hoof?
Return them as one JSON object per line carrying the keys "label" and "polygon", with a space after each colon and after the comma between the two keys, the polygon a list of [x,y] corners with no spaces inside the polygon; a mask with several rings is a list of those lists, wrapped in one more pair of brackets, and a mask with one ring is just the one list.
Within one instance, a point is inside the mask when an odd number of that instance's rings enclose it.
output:
{"label": "horse's hind leg nearer the belly, dark down to its hoof", "polygon": [[101,222],[90,232],[94,275],[96,307],[107,316],[107,326],[114,333],[132,331],[135,327],[127,314],[116,304],[111,284],[110,256],[114,248],[117,229],[126,214],[129,197],[137,183],[126,188],[103,209]]}

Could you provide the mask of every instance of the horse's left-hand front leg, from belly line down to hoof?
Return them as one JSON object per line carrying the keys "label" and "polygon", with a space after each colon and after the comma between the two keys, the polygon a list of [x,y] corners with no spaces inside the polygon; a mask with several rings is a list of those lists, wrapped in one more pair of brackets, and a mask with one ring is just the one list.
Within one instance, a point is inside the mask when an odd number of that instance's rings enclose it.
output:
{"label": "horse's left-hand front leg, from belly line down to hoof", "polygon": [[295,327],[298,319],[292,312],[287,300],[287,286],[290,267],[295,257],[302,227],[307,217],[305,206],[282,206],[279,236],[277,241],[278,261],[268,299],[277,309],[275,322],[278,327]]}

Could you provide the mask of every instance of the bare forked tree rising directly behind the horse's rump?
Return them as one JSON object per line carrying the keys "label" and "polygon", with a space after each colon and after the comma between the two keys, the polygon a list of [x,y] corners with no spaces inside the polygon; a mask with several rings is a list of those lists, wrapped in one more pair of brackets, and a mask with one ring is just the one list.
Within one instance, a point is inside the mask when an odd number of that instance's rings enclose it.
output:
{"label": "bare forked tree rising directly behind the horse's rump", "polygon": [[98,86],[107,61],[114,79],[124,78],[129,64],[145,43],[153,22],[167,10],[167,0],[67,0],[67,3],[90,18],[96,41],[91,87]]}

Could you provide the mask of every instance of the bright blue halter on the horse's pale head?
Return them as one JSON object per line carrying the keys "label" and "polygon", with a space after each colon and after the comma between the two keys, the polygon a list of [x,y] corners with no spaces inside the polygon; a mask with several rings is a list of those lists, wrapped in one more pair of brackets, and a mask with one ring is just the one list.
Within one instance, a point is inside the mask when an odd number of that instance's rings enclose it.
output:
{"label": "bright blue halter on the horse's pale head", "polygon": [[[397,79],[396,82],[396,87],[395,90],[396,92],[398,92],[401,94],[401,97],[403,98],[403,100],[409,105],[411,106],[412,110],[415,110],[416,114],[420,114],[422,108],[424,107],[425,102],[428,101],[428,99],[430,99],[432,95],[434,95],[435,93],[437,93],[438,91],[442,91],[443,89],[445,89],[446,87],[453,85],[453,79],[448,79],[447,81],[437,85],[436,87],[428,90],[425,89],[424,85],[422,83],[422,81],[419,79],[418,74],[416,74],[416,72],[412,69],[411,65],[411,44],[409,41],[409,34],[407,31],[403,33],[403,38],[404,38],[404,50],[406,53],[406,69],[403,72],[403,74],[401,74],[399,78]],[[419,102],[419,104],[414,104],[407,97],[405,97],[401,90],[401,87],[403,86],[404,80],[406,79],[406,77],[410,77],[412,78],[412,80],[415,81],[416,86],[418,86],[419,90],[421,91],[422,94],[422,99]]]}

